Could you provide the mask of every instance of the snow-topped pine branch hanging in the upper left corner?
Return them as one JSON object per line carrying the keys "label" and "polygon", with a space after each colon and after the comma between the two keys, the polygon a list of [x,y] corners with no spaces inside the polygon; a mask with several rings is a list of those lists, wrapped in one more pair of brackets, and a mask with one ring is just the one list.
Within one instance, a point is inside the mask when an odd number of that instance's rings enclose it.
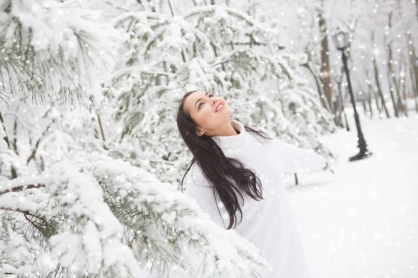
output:
{"label": "snow-topped pine branch hanging in the upper left corner", "polygon": [[93,10],[66,2],[6,2],[0,18],[3,101],[19,95],[36,104],[50,99],[97,104],[100,90],[95,79],[104,74],[98,70],[114,64],[114,28],[95,22]]}

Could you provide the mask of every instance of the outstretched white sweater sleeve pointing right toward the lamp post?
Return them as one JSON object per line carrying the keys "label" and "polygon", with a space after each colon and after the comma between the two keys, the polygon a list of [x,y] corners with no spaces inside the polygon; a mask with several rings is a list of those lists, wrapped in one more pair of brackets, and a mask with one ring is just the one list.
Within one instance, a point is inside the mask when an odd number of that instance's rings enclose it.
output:
{"label": "outstretched white sweater sleeve pointing right toward the lamp post", "polygon": [[301,149],[275,138],[266,129],[261,129],[273,138],[272,154],[274,154],[275,161],[283,172],[309,172],[311,170],[322,170],[326,166],[325,158],[316,154],[314,149]]}

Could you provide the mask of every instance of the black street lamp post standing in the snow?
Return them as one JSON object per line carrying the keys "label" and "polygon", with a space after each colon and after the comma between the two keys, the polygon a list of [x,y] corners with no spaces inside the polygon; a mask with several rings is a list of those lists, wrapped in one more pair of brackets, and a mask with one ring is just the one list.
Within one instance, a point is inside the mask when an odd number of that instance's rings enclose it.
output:
{"label": "black street lamp post standing in the snow", "polygon": [[347,56],[346,56],[346,48],[348,47],[348,34],[343,31],[337,31],[333,36],[332,39],[334,40],[336,49],[341,51],[341,58],[343,59],[344,69],[346,70],[346,76],[347,76],[347,84],[348,84],[348,91],[350,92],[351,97],[351,104],[353,104],[354,109],[354,118],[355,118],[355,126],[357,127],[357,136],[359,138],[359,147],[360,152],[356,154],[355,156],[350,157],[350,161],[358,161],[360,159],[369,157],[373,154],[373,152],[369,152],[367,150],[367,144],[366,140],[364,140],[364,136],[362,133],[362,128],[360,127],[360,120],[359,115],[357,114],[357,108],[355,107],[355,100],[353,95],[353,89],[351,88],[351,82],[350,82],[350,74],[348,72],[347,67]]}

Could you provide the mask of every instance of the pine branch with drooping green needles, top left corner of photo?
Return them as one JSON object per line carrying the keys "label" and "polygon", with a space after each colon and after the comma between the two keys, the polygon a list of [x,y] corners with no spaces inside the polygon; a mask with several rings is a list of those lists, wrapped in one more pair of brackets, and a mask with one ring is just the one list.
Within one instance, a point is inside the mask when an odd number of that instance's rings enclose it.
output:
{"label": "pine branch with drooping green needles, top left corner of photo", "polygon": [[[22,24],[20,17],[11,11],[4,15],[6,23],[2,26],[0,38],[0,48],[3,50],[0,72],[4,81],[2,91],[6,92],[6,97],[2,99],[8,101],[12,97],[20,97],[36,104],[44,104],[49,99],[61,99],[72,101],[71,105],[77,102],[84,107],[95,106],[95,97],[87,95],[82,85],[93,85],[91,72],[96,68],[110,68],[109,64],[115,62],[108,47],[111,44],[101,42],[113,39],[116,33],[110,26],[90,24],[89,19],[84,17],[85,11],[78,5],[63,6],[55,2],[44,13],[38,16],[33,14],[33,20],[26,24]],[[71,10],[75,18],[57,17],[59,27],[47,28],[47,33],[56,32],[58,35],[59,31],[61,34],[70,31],[69,40],[79,44],[74,48],[75,51],[68,51],[68,44],[63,40],[47,38],[46,42],[38,42],[38,32],[43,31],[34,26],[49,26],[49,20],[54,16],[49,13],[57,9]],[[8,42],[6,34],[13,35],[15,40]],[[36,44],[46,45],[36,47]],[[4,83],[7,90],[4,90]]]}

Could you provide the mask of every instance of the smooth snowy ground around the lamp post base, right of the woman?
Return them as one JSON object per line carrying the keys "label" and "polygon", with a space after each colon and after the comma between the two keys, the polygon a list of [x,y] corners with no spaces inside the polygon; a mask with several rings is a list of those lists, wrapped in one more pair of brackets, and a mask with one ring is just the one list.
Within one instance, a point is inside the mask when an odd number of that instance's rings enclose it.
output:
{"label": "smooth snowy ground around the lamp post base, right of the woman", "polygon": [[357,131],[327,136],[339,155],[330,172],[300,175],[288,188],[311,278],[418,277],[418,115],[369,120],[369,149],[357,154]]}

